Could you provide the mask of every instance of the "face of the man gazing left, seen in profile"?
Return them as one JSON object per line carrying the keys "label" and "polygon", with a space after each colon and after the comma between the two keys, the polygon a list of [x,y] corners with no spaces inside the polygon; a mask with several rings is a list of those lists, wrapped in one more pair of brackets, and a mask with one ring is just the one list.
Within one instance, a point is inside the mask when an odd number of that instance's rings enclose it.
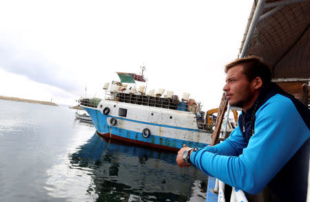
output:
{"label": "face of the man gazing left, seen in profile", "polygon": [[247,79],[242,70],[242,65],[236,65],[228,70],[223,90],[226,92],[229,105],[246,111],[253,105],[256,97],[253,83]]}

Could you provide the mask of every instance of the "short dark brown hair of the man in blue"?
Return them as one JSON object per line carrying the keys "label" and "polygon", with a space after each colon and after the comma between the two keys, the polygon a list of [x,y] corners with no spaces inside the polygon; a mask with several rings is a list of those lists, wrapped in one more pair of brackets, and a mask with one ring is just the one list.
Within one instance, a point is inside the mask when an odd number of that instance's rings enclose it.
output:
{"label": "short dark brown hair of the man in blue", "polygon": [[260,57],[252,55],[249,57],[236,59],[235,61],[225,65],[225,73],[236,65],[242,65],[242,72],[247,76],[249,81],[252,81],[256,77],[260,77],[263,84],[268,84],[271,82],[271,71],[269,65]]}

